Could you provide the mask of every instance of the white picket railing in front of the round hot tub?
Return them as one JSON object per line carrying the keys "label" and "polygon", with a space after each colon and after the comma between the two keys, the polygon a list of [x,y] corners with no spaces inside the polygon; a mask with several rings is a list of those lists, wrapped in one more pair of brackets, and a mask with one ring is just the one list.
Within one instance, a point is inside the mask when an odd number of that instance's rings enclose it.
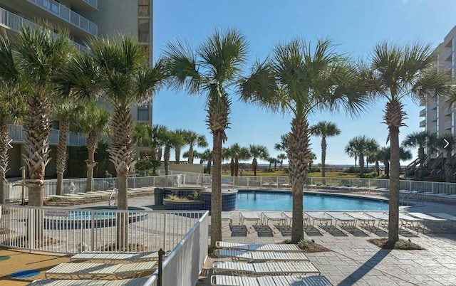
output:
{"label": "white picket railing in front of the round hot tub", "polygon": [[170,252],[206,212],[12,205],[0,208],[0,245],[52,253],[112,250],[117,228],[123,229],[124,223],[128,223],[128,245],[120,248],[137,252],[161,248]]}

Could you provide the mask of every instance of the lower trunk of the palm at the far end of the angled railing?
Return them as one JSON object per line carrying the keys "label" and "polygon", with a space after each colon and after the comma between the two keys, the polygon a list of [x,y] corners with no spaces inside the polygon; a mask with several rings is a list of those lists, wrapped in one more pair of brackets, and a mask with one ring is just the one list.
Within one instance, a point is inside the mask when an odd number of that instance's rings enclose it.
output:
{"label": "lower trunk of the palm at the far end of the angled railing", "polygon": [[222,136],[212,135],[211,247],[222,240]]}

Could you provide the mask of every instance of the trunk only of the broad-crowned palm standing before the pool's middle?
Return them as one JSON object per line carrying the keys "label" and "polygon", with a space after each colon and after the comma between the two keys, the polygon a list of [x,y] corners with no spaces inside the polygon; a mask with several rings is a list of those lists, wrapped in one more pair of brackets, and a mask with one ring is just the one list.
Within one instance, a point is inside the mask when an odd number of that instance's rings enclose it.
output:
{"label": "trunk only of the broad-crowned palm standing before the pool's middle", "polygon": [[289,158],[291,190],[293,194],[293,223],[291,228],[291,242],[298,243],[304,238],[303,225],[303,188],[309,173],[310,161],[309,122],[304,115],[291,121],[289,132],[289,147],[286,154]]}

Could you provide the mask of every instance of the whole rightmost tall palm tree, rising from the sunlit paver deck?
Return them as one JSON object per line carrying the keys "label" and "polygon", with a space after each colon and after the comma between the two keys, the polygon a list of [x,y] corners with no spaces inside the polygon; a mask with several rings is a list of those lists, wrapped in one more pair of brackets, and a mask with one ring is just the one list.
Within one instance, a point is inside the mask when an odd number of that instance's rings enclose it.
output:
{"label": "whole rightmost tall palm tree, rising from the sunlit paver deck", "polygon": [[399,239],[399,129],[406,113],[402,100],[423,99],[426,95],[446,96],[450,92],[450,74],[440,72],[437,51],[430,44],[411,43],[403,47],[388,42],[373,49],[370,65],[362,65],[363,78],[375,97],[385,98],[385,120],[391,148],[388,242]]}

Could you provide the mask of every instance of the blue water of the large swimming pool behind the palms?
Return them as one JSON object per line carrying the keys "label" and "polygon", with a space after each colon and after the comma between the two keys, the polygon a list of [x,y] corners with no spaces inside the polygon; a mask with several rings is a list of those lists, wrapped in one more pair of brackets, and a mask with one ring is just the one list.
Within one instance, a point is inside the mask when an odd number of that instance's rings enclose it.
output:
{"label": "blue water of the large swimming pool behind the palms", "polygon": [[[304,193],[304,211],[388,211],[388,201]],[[291,211],[293,197],[289,192],[239,190],[237,210]]]}

